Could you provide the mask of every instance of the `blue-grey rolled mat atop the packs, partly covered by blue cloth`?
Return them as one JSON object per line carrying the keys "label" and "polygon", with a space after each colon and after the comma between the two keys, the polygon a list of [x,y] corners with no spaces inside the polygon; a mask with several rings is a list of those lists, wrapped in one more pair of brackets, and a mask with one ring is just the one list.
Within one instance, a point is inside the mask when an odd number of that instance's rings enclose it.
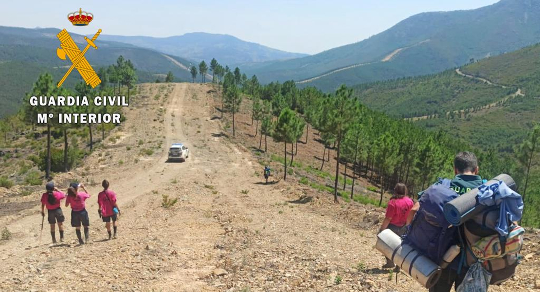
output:
{"label": "blue-grey rolled mat atop the packs, partly covered by blue cloth", "polygon": [[[484,185],[492,185],[498,181],[504,181],[504,183],[512,189],[517,191],[517,185],[514,179],[508,174],[499,174],[492,178]],[[444,218],[454,226],[462,225],[465,221],[473,218],[474,215],[482,212],[487,206],[480,205],[476,198],[478,194],[478,188],[471,189],[469,192],[458,196],[456,199],[444,204]]]}

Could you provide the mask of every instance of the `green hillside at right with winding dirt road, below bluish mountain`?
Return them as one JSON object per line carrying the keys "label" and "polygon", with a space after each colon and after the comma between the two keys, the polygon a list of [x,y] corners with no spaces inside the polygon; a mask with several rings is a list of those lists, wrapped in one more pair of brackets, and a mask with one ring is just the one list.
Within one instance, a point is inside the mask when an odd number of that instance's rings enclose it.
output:
{"label": "green hillside at right with winding dirt road, below bluish mountain", "polygon": [[413,118],[484,149],[511,152],[539,121],[539,53],[540,45],[534,45],[457,72],[357,85],[355,94],[393,117]]}

